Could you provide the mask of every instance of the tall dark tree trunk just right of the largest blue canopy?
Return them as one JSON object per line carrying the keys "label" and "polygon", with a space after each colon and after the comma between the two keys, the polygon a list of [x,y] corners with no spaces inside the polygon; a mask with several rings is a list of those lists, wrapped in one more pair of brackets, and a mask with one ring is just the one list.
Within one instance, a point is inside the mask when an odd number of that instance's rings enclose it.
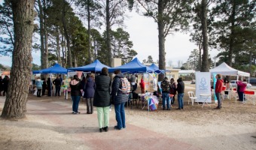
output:
{"label": "tall dark tree trunk just right of the largest blue canopy", "polygon": [[[158,44],[159,44],[159,69],[166,70],[166,50],[165,50],[165,37],[164,37],[164,24],[163,24],[163,0],[158,1]],[[163,81],[164,74],[159,74],[158,81]]]}

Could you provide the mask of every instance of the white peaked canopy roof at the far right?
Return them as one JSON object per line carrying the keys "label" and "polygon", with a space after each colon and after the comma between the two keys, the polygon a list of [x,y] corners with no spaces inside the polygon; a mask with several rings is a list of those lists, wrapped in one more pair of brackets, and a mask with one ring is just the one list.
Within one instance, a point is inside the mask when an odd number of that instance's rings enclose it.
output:
{"label": "white peaked canopy roof at the far right", "polygon": [[225,62],[219,65],[216,68],[210,69],[211,74],[221,74],[224,76],[243,76],[243,77],[250,77],[249,73],[245,73],[242,71],[238,71],[234,68],[231,68]]}

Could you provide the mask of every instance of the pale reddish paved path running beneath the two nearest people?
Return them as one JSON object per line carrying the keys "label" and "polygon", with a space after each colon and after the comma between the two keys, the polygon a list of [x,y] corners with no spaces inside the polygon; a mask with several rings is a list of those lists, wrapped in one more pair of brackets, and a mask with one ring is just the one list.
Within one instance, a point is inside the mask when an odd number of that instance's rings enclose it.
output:
{"label": "pale reddish paved path running beneath the two nearest people", "polygon": [[[0,98],[1,107],[4,101],[4,98]],[[200,149],[154,132],[150,128],[132,124],[126,124],[124,130],[114,130],[114,111],[111,111],[108,132],[99,133],[96,112],[92,115],[84,114],[86,110],[83,105],[80,106],[82,113],[73,115],[71,101],[28,101],[27,116],[29,119],[43,121],[48,126],[44,128],[63,136],[71,136],[74,141],[67,142],[78,142],[78,145],[84,145],[86,149]]]}

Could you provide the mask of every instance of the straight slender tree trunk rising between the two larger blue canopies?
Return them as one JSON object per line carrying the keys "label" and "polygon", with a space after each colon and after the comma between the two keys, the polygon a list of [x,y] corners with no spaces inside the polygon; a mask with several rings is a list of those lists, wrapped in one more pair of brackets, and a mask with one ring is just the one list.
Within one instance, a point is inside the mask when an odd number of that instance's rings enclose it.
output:
{"label": "straight slender tree trunk rising between the two larger blue canopies", "polygon": [[108,52],[108,66],[111,66],[111,40],[110,40],[110,13],[109,13],[109,0],[106,0],[106,34],[107,34],[107,52]]}

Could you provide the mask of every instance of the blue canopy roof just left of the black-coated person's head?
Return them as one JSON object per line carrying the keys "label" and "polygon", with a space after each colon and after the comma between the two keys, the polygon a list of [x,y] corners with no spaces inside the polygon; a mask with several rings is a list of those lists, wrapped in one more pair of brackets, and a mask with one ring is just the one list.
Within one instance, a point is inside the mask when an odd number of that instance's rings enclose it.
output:
{"label": "blue canopy roof just left of the black-coated person's head", "polygon": [[85,72],[101,72],[102,68],[108,68],[108,66],[103,65],[101,62],[99,62],[98,59],[96,59],[93,63],[90,65],[81,66],[78,68],[68,68],[69,71],[85,71]]}

